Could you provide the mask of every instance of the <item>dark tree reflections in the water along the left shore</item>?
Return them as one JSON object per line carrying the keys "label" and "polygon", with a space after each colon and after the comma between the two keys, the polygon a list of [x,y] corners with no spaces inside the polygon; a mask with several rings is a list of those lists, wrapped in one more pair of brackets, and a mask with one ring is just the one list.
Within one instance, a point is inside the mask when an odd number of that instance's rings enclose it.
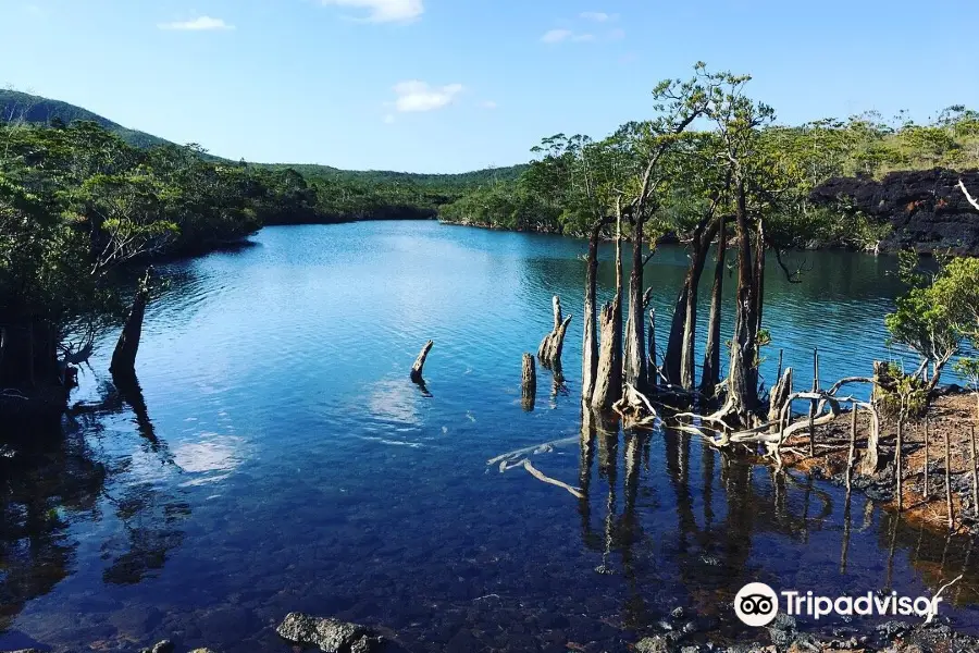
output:
{"label": "dark tree reflections in the water along the left shore", "polygon": [[28,601],[74,571],[72,523],[119,520],[101,545],[102,579],[110,584],[136,583],[158,571],[183,541],[190,505],[172,484],[134,481],[132,455],[107,457],[95,448],[111,418],[132,415],[139,448],[179,473],[138,382],[115,381],[101,386],[102,401],[75,406],[63,422],[7,424],[0,432],[13,452],[0,457],[0,632]]}

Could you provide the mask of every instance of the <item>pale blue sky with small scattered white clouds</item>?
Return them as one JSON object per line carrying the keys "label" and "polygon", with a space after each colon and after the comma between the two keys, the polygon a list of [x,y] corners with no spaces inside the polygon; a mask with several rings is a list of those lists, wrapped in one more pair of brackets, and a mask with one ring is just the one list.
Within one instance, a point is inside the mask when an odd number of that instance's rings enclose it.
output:
{"label": "pale blue sky with small scattered white clouds", "polygon": [[654,115],[695,62],[783,124],[979,109],[975,0],[0,0],[0,85],[256,162],[464,172]]}

